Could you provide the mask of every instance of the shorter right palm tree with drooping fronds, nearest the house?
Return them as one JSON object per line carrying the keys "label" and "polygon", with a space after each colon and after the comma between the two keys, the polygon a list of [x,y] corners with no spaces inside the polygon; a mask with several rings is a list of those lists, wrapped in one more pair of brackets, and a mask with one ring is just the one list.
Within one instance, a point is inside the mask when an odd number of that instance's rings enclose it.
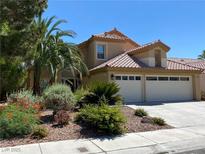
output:
{"label": "shorter right palm tree with drooping fronds, nearest the house", "polygon": [[[51,48],[49,50],[49,70],[50,70],[50,83],[57,82],[58,72],[63,69],[70,70],[73,76],[77,74],[88,74],[88,69],[82,61],[79,49],[73,43],[65,43],[62,41],[62,36],[73,37],[73,32],[62,31],[57,32],[51,39]],[[80,75],[82,76],[82,75]]]}

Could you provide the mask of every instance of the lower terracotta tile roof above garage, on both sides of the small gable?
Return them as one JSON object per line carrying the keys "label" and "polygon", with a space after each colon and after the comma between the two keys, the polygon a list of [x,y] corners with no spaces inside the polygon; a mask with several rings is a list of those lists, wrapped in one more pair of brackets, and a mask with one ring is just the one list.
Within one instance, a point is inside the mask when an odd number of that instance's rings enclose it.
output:
{"label": "lower terracotta tile roof above garage, on both sides of the small gable", "polygon": [[[91,69],[90,71],[103,68],[103,67],[114,67],[114,68],[153,68],[149,67],[146,64],[140,62],[137,58],[133,58],[127,53],[120,54],[107,62],[96,66],[95,68]],[[182,64],[173,60],[167,60],[167,68],[166,70],[200,70],[196,67],[191,67],[186,64]]]}

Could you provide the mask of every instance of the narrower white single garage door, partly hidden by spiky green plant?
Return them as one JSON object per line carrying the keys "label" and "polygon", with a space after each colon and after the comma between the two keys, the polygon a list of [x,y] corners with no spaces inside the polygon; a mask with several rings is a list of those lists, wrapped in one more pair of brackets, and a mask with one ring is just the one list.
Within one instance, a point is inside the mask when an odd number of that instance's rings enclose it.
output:
{"label": "narrower white single garage door, partly hidden by spiky green plant", "polygon": [[125,103],[142,102],[142,80],[137,75],[115,75],[115,82],[120,87],[119,94]]}

